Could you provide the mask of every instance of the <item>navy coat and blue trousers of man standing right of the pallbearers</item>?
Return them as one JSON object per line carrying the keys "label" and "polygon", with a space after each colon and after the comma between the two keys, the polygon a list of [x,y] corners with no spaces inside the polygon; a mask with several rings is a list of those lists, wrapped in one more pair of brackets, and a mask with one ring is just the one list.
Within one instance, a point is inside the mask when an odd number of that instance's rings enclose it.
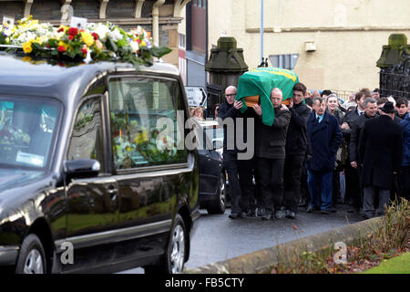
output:
{"label": "navy coat and blue trousers of man standing right of the pallbearers", "polygon": [[[337,119],[327,110],[323,120],[316,120],[313,110],[307,122],[307,134],[312,147],[312,159],[307,163],[311,205],[329,211],[332,206],[332,176],[336,151],[342,144],[343,135]],[[320,193],[319,193],[320,190]]]}

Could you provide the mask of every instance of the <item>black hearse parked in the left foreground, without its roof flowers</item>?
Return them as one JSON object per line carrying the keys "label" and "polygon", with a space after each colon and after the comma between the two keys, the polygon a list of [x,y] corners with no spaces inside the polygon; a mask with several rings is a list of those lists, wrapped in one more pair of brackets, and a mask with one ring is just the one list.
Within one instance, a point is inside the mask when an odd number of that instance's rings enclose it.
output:
{"label": "black hearse parked in the left foreground, without its roof flowers", "polygon": [[189,118],[171,65],[0,52],[0,266],[181,272],[200,216],[197,152],[175,141]]}

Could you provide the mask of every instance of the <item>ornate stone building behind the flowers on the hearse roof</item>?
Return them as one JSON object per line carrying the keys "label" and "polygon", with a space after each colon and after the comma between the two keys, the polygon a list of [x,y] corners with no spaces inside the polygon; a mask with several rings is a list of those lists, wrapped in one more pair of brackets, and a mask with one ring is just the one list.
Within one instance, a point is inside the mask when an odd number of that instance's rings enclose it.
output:
{"label": "ornate stone building behind the flowers on the hearse roof", "polygon": [[0,0],[0,19],[20,19],[32,15],[42,22],[59,25],[61,7],[71,5],[74,16],[88,22],[106,22],[124,28],[143,26],[152,33],[154,43],[172,52],[163,60],[178,66],[178,25],[181,10],[190,0]]}

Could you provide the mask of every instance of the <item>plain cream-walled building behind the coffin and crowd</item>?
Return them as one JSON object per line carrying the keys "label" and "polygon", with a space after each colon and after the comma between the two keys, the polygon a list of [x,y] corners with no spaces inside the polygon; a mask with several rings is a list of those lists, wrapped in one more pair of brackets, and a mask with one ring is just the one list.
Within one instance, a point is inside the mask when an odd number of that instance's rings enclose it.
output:
{"label": "plain cream-walled building behind the coffin and crowd", "polygon": [[[208,51],[233,36],[251,68],[261,63],[261,0],[208,0]],[[263,55],[293,68],[310,89],[379,86],[376,61],[391,34],[410,39],[409,0],[264,0]]]}

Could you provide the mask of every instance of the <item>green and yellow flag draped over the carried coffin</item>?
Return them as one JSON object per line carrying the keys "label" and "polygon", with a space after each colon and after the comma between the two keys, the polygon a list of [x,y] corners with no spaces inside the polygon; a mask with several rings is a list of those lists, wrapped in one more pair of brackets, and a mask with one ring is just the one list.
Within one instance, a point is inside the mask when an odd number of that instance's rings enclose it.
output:
{"label": "green and yellow flag draped over the carried coffin", "polygon": [[273,67],[255,68],[243,73],[239,78],[236,100],[241,100],[243,103],[241,112],[247,110],[252,101],[260,103],[262,122],[272,126],[275,118],[271,102],[272,89],[282,89],[283,100],[290,99],[293,96],[293,85],[298,82],[298,76],[291,70]]}

